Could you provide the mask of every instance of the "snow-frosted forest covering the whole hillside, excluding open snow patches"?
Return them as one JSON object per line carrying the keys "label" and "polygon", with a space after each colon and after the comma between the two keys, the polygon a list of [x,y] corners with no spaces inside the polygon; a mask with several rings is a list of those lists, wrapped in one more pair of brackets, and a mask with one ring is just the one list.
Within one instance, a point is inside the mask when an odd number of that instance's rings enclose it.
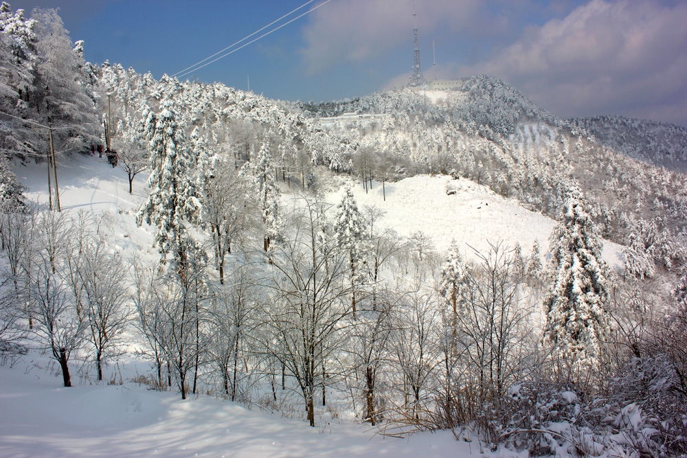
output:
{"label": "snow-frosted forest covering the whole hillside, excluding open snow patches", "polygon": [[[311,426],[340,407],[492,450],[687,453],[684,174],[487,76],[289,103],[91,65],[54,10],[2,3],[0,32],[0,361],[38,348],[67,387],[75,359],[102,382],[135,344],[153,389]],[[157,255],[130,259],[106,214],[27,201],[12,161],[48,161],[50,128],[60,154],[117,150],[130,194],[150,172],[136,220]],[[332,177],[368,191],[425,173],[556,218],[551,252],[441,253],[350,187],[326,201]],[[626,246],[622,272],[604,238]]]}

